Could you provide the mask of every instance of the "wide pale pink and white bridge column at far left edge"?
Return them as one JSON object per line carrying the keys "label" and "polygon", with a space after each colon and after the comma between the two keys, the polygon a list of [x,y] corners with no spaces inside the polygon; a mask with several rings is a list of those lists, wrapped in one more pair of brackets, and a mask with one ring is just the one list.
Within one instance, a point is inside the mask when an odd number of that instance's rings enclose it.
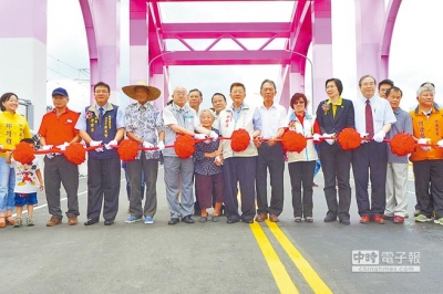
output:
{"label": "wide pale pink and white bridge column at far left edge", "polygon": [[30,99],[32,129],[47,113],[47,0],[2,0],[0,9],[0,95]]}

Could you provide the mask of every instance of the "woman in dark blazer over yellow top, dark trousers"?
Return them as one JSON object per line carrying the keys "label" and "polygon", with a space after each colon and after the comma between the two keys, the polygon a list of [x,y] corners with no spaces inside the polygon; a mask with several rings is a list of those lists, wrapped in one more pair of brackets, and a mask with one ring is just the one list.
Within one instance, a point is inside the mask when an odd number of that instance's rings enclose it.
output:
{"label": "woman in dark blazer over yellow top, dark trousers", "polygon": [[[338,78],[326,81],[327,101],[319,104],[317,108],[317,122],[322,134],[321,137],[336,136],[343,128],[354,127],[353,104],[343,99],[340,95],[343,85]],[[315,139],[319,139],[315,135]],[[319,145],[320,162],[324,176],[324,197],[328,203],[328,212],[324,222],[332,222],[337,217],[342,224],[350,224],[349,208],[351,204],[351,186],[349,183],[352,151],[343,150],[333,139],[326,139]],[[337,177],[337,178],[336,178]],[[337,188],[339,199],[337,201]]]}

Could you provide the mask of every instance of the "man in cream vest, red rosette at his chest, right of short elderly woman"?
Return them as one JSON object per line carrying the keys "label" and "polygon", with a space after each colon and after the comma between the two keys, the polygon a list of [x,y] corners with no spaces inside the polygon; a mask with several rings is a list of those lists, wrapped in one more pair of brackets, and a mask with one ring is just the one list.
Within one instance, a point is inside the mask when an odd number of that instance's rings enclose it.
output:
{"label": "man in cream vest, red rosette at his chest, right of short elderly woman", "polygon": [[[230,137],[233,132],[239,128],[249,133],[250,139],[257,138],[261,133],[260,113],[255,107],[244,104],[246,88],[241,83],[230,85],[230,98],[233,105],[220,113],[219,130],[223,137]],[[225,209],[227,223],[243,220],[253,223],[256,214],[255,209],[255,170],[257,160],[257,147],[250,143],[246,150],[236,153],[230,148],[230,141],[224,140],[223,149],[223,174],[225,177]],[[238,214],[237,181],[241,193],[241,217]]]}

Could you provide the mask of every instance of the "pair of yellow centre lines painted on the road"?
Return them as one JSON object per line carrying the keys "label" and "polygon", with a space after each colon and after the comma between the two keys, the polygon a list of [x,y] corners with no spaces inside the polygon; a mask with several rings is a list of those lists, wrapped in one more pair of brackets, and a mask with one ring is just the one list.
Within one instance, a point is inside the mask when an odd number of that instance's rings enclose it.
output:
{"label": "pair of yellow centre lines painted on the road", "polygon": [[[284,248],[286,253],[289,255],[290,260],[300,271],[305,280],[308,282],[313,293],[332,293],[332,291],[323,282],[323,280],[321,280],[309,262],[300,254],[297,248],[289,241],[280,228],[275,222],[270,222],[269,220],[266,220],[266,224],[280,245]],[[260,224],[258,222],[254,222],[250,224],[250,229],[253,230],[257,243],[260,246],[266,262],[268,263],[269,270],[276,280],[280,293],[299,293],[297,286],[290,279],[285,265],[278,258],[277,252],[274,250]]]}

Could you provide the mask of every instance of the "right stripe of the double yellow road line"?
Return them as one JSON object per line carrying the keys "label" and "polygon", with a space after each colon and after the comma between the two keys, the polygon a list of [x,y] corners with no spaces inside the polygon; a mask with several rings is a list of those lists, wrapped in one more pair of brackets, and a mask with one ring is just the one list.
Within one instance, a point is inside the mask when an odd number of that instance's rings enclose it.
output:
{"label": "right stripe of the double yellow road line", "polygon": [[266,224],[269,230],[276,237],[277,241],[288,253],[291,261],[296,264],[297,269],[303,275],[305,280],[308,282],[313,293],[332,293],[328,285],[321,280],[317,272],[312,269],[309,262],[301,255],[297,248],[289,241],[286,234],[280,230],[280,228],[269,220],[266,220]]}

